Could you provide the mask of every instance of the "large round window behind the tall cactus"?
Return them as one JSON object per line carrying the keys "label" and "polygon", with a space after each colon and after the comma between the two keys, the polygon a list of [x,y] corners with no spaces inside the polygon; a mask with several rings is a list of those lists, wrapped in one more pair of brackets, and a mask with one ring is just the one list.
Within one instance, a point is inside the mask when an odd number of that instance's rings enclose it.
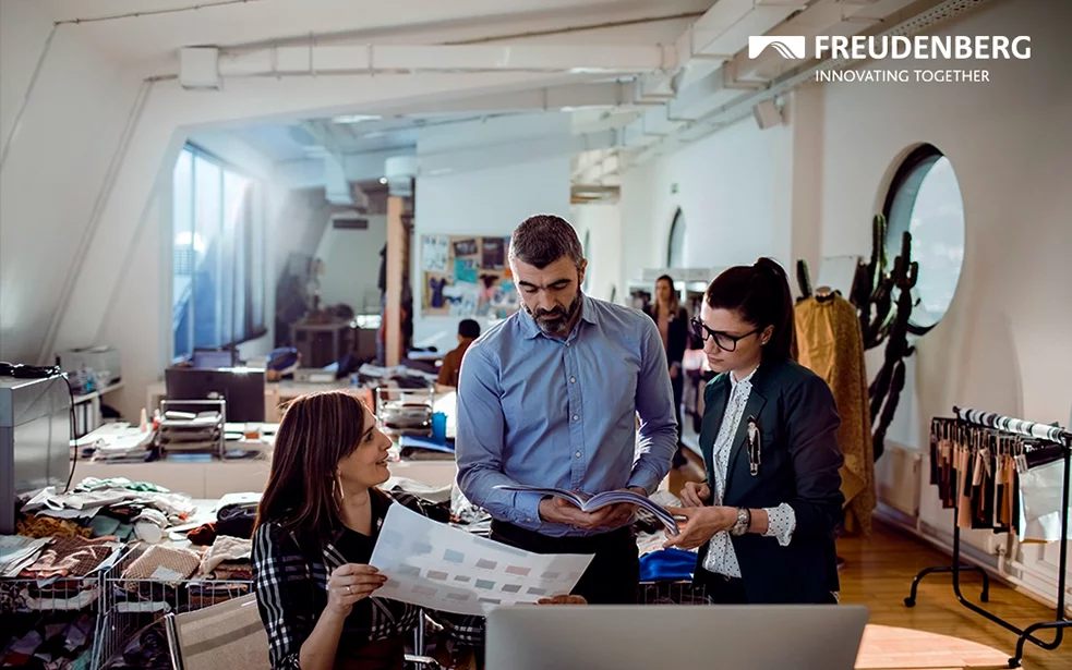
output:
{"label": "large round window behind the tall cactus", "polygon": [[889,221],[886,248],[901,252],[904,231],[912,233],[912,258],[919,263],[910,330],[923,334],[945,315],[964,265],[964,200],[953,165],[925,144],[901,163],[886,196]]}

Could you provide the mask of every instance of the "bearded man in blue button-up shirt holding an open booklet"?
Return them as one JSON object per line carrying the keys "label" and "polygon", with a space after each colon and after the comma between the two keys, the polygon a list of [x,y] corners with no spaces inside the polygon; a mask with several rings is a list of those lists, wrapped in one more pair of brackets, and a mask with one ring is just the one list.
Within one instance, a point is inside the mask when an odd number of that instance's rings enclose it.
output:
{"label": "bearded man in blue button-up shirt holding an open booklet", "polygon": [[494,517],[494,539],[539,553],[595,555],[575,594],[635,602],[634,505],[585,513],[495,487],[652,494],[677,448],[662,339],[642,313],[581,293],[588,261],[562,218],[521,223],[509,263],[521,310],[473,342],[461,365],[458,485]]}

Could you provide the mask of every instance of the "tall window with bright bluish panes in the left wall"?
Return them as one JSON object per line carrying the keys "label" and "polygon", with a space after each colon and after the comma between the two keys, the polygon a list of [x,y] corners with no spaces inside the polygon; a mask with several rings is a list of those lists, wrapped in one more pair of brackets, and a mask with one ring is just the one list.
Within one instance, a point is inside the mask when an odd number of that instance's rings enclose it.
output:
{"label": "tall window with bright bluish panes in the left wall", "polygon": [[237,344],[264,328],[260,184],[188,145],[173,172],[174,356]]}

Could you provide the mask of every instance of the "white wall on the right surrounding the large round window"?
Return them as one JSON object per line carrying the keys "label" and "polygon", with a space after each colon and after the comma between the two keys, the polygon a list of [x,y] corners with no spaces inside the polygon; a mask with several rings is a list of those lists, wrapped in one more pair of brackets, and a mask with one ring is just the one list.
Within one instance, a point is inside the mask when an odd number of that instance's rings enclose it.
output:
{"label": "white wall on the right surrounding the large round window", "polygon": [[[960,284],[948,314],[910,362],[916,398],[902,398],[902,404],[918,402],[920,417],[905,436],[910,443],[925,446],[929,418],[948,416],[954,404],[1041,422],[1069,417],[1070,19],[1068,3],[991,2],[943,29],[1032,36],[1031,61],[964,65],[988,69],[988,84],[824,87],[824,254],[869,252],[870,217],[896,161],[918,143],[949,157],[964,199]],[[926,65],[934,66],[920,63]],[[923,489],[925,523],[949,532],[950,512],[940,509],[926,479]],[[975,533],[968,541],[983,546],[984,539]],[[1035,568],[1056,574],[1056,546],[1029,552]]]}

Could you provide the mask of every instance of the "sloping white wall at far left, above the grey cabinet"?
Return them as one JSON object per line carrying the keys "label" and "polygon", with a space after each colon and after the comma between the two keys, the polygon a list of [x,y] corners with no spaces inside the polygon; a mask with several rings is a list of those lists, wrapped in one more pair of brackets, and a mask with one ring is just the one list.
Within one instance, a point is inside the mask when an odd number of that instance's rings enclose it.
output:
{"label": "sloping white wall at far left, above the grey cabinet", "polygon": [[[51,358],[41,343],[58,326],[57,306],[98,228],[100,195],[137,90],[71,26],[49,42],[51,23],[33,4],[0,3],[0,360],[23,363]],[[84,346],[98,331],[71,334],[64,345]]]}

